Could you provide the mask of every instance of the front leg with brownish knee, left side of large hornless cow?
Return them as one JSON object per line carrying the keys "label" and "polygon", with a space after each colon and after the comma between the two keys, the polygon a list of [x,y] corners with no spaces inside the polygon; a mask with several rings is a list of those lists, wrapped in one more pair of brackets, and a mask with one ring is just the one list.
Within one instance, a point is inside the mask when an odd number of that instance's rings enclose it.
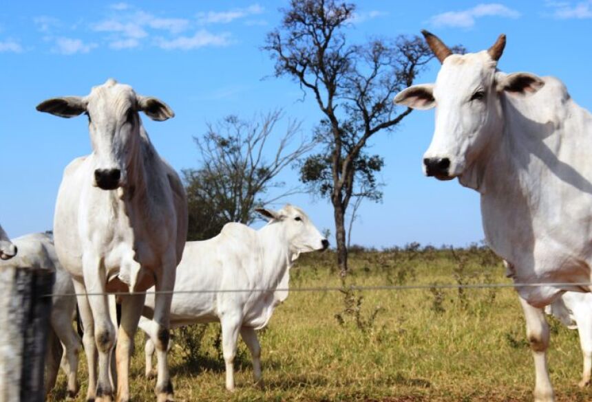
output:
{"label": "front leg with brownish knee, left side of large hornless cow", "polygon": [[[98,381],[96,402],[113,401],[113,384],[109,375],[116,333],[109,309],[109,296],[105,293],[105,273],[98,257],[83,256],[84,284],[94,321],[94,340],[98,349]],[[85,328],[86,331],[87,328]]]}

